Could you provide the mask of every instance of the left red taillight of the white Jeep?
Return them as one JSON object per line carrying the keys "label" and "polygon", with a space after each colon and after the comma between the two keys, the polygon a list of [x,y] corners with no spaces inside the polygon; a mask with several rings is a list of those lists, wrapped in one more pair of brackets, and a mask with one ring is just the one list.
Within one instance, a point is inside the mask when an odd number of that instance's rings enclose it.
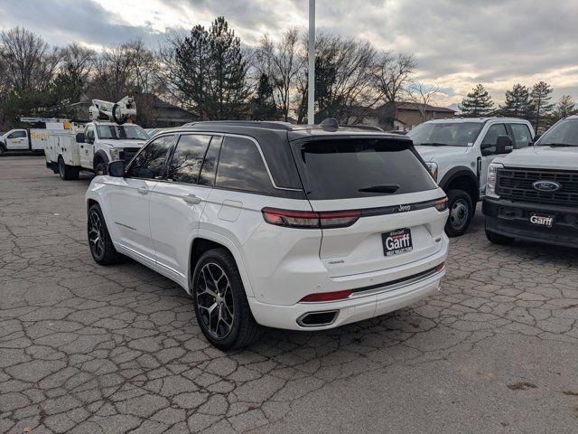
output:
{"label": "left red taillight of the white Jeep", "polygon": [[346,228],[357,222],[361,216],[359,211],[311,212],[263,208],[261,212],[267,223],[300,229]]}

